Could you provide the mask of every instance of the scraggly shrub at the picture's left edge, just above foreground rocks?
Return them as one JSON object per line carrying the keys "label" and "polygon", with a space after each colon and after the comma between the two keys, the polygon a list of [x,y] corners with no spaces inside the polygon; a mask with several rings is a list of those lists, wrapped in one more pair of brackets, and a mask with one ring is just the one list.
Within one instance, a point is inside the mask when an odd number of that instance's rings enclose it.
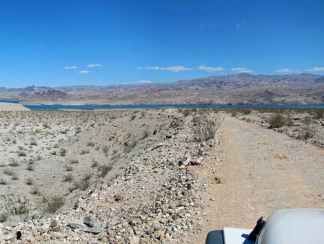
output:
{"label": "scraggly shrub at the picture's left edge, just above foreground rocks", "polygon": [[1,203],[0,222],[7,220],[9,216],[23,216],[28,217],[30,204],[27,199],[12,196],[4,196]]}

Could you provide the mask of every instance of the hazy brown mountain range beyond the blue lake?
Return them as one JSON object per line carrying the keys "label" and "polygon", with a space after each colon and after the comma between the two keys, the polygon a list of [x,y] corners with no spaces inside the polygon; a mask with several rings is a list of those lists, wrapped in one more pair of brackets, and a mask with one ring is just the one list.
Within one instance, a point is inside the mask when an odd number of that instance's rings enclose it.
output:
{"label": "hazy brown mountain range beyond the blue lake", "polygon": [[323,104],[324,75],[212,75],[198,79],[109,86],[0,88],[0,99],[84,103]]}

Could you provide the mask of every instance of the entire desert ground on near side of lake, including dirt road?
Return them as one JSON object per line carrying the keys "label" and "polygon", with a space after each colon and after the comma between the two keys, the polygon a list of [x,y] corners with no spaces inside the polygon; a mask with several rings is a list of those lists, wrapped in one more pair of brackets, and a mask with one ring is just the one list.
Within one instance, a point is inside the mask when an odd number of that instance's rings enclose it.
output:
{"label": "entire desert ground on near side of lake, including dirt road", "polygon": [[8,106],[1,243],[204,243],[324,207],[323,110]]}

